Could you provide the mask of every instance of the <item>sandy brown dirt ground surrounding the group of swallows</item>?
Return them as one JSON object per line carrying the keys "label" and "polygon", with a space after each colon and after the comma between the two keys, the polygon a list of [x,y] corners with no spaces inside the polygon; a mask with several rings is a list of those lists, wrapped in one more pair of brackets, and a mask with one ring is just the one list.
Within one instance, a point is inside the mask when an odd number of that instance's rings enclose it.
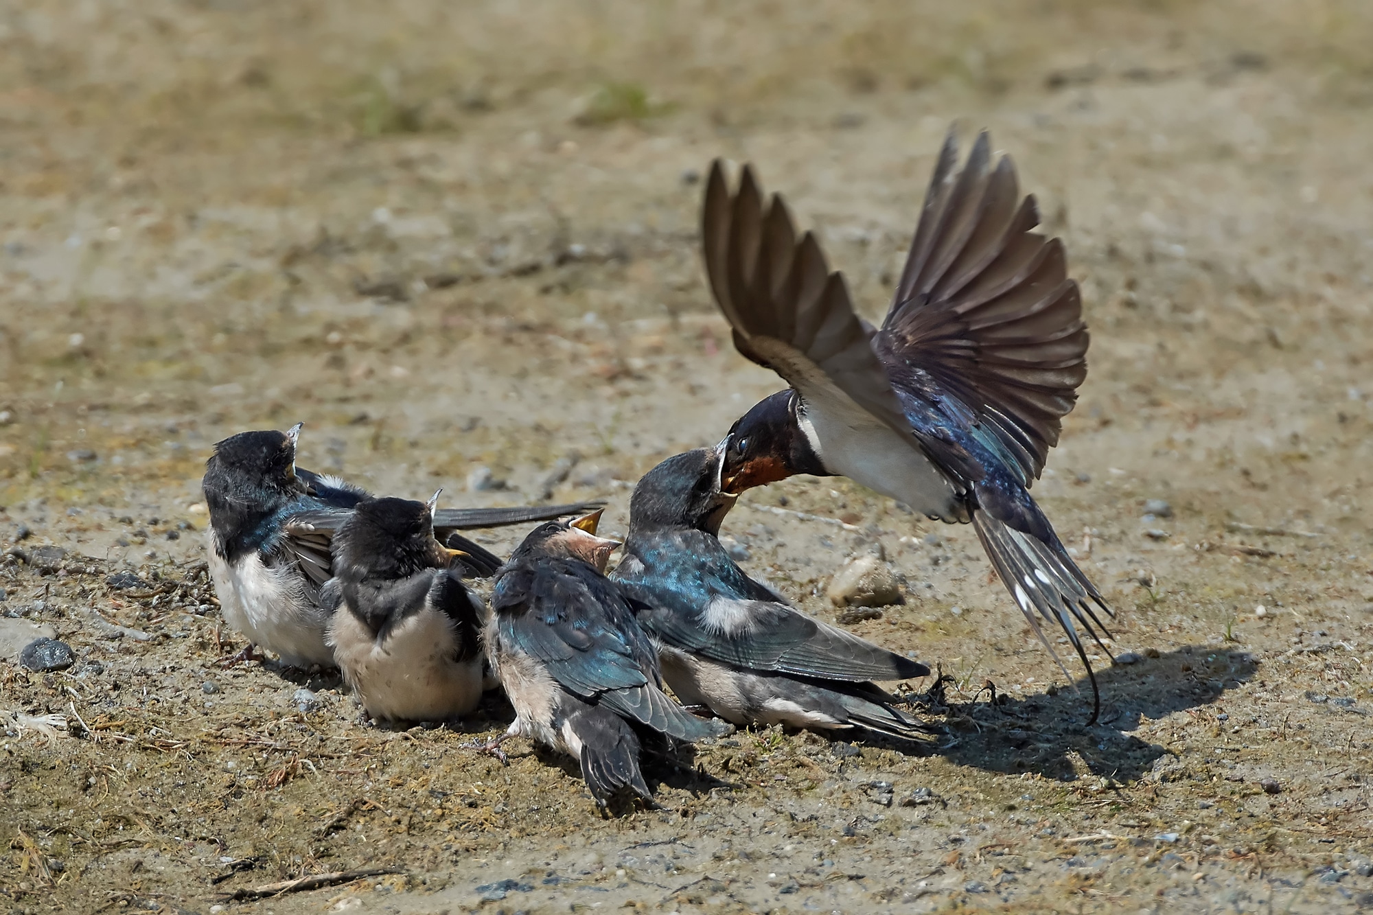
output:
{"label": "sandy brown dirt ground surrounding the group of swallows", "polygon": [[[1370,47],[1365,0],[0,12],[0,643],[77,655],[4,648],[0,904],[1373,908]],[[302,466],[623,530],[640,473],[777,387],[702,282],[711,158],[877,317],[953,121],[1082,283],[1090,374],[1035,493],[1131,661],[1097,658],[1098,725],[971,530],[842,479],[725,533],[831,620],[880,544],[906,603],[853,629],[956,680],[923,747],[741,732],[600,819],[570,762],[463,747],[497,697],[383,730],[328,673],[217,665],[211,442],[305,422]],[[395,872],[232,900],[358,868]]]}

